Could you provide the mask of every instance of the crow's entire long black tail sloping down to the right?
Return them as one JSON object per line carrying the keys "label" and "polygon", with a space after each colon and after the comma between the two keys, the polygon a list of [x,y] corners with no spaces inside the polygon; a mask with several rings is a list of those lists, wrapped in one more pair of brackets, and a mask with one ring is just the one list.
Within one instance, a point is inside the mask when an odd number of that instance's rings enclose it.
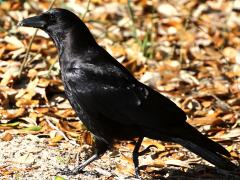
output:
{"label": "crow's entire long black tail sloping down to the right", "polygon": [[221,169],[229,171],[239,169],[237,165],[224,157],[230,157],[231,155],[223,146],[204,136],[188,123],[168,129],[162,128],[158,133],[145,128],[144,134],[153,139],[172,141],[181,144],[188,150]]}

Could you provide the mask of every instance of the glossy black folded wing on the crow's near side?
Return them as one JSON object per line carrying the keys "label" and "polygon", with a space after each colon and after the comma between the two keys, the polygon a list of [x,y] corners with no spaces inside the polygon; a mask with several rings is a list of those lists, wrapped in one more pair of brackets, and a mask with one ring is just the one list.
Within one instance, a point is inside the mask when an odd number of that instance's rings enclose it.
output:
{"label": "glossy black folded wing on the crow's near side", "polygon": [[78,63],[66,76],[75,98],[91,114],[151,129],[186,120],[185,113],[172,101],[138,82],[121,64],[106,60],[106,56],[101,60],[98,55],[94,64]]}

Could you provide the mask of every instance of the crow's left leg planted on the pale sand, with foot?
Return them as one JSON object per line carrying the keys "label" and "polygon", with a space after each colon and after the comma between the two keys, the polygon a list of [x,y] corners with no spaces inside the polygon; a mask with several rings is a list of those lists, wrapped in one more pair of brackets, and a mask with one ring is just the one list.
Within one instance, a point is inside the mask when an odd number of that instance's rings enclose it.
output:
{"label": "crow's left leg planted on the pale sand, with foot", "polygon": [[106,144],[104,141],[95,140],[95,149],[94,149],[94,154],[88,158],[86,161],[83,163],[79,164],[76,166],[73,170],[66,169],[62,170],[60,173],[64,175],[77,175],[82,172],[82,170],[91,162],[95,161],[96,159],[99,159],[101,155],[103,155],[108,149],[108,144]]}

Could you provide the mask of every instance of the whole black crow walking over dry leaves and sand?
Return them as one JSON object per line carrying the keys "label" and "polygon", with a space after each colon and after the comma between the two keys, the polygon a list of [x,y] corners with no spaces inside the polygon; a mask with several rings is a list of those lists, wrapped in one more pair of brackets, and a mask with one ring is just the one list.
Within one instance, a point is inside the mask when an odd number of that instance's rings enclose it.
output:
{"label": "whole black crow walking over dry leaves and sand", "polygon": [[103,155],[115,140],[138,138],[133,150],[139,177],[139,148],[144,137],[179,143],[215,166],[238,168],[229,152],[186,122],[186,114],[165,96],[137,81],[100,47],[72,12],[52,9],[24,19],[20,26],[40,28],[57,46],[66,96],[94,135],[95,152],[65,174],[77,174]]}

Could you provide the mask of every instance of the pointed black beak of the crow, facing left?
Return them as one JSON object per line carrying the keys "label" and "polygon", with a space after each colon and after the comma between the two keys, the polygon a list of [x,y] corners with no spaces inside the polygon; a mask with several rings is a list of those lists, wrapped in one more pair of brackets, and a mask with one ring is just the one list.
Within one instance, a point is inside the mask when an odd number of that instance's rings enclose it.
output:
{"label": "pointed black beak of the crow, facing left", "polygon": [[34,27],[43,29],[47,25],[47,22],[42,19],[41,16],[33,16],[22,20],[18,23],[18,26]]}

